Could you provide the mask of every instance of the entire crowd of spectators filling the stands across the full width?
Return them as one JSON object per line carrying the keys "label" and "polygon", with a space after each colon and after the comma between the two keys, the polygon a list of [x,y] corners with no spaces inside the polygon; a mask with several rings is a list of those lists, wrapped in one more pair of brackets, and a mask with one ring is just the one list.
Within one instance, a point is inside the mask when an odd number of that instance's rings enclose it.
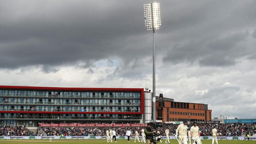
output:
{"label": "entire crowd of spectators filling the stands across the full width", "polygon": [[[217,132],[219,136],[225,137],[239,137],[256,134],[255,125],[248,124],[215,124],[217,126]],[[170,135],[174,135],[177,124],[166,124],[156,130],[160,131],[160,135],[164,135],[165,129],[169,129]],[[188,125],[189,129],[190,126]],[[211,136],[211,130],[213,124],[198,124],[201,136]],[[42,130],[48,136],[106,136],[106,130],[110,127],[42,127]],[[132,131],[132,135],[135,131],[140,134],[141,127],[113,127],[116,129],[118,136],[125,136],[128,128]],[[33,133],[25,126],[0,126],[0,136],[37,136],[38,133]]]}

